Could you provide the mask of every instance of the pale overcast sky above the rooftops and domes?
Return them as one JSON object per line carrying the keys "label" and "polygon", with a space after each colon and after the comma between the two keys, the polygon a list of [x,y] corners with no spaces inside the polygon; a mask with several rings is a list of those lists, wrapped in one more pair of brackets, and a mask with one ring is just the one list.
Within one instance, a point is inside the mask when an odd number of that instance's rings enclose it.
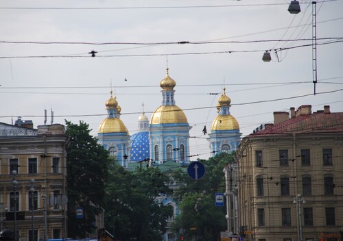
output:
{"label": "pale overcast sky above the rooftops and domes", "polygon": [[[197,137],[190,144],[196,157],[209,157],[202,129],[211,129],[223,86],[242,137],[289,107],[343,112],[343,1],[318,1],[316,27],[312,1],[300,0],[299,14],[289,14],[289,2],[1,0],[0,122],[22,116],[36,128],[52,108],[54,123],[82,120],[96,136],[112,83],[134,134],[142,103],[149,118],[161,105],[167,66],[176,105]],[[266,50],[271,62],[261,59]]]}

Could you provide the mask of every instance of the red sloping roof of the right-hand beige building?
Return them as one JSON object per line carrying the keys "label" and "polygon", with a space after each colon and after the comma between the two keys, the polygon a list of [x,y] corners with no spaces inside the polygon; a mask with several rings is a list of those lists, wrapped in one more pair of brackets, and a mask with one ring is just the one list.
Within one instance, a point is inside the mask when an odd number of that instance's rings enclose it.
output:
{"label": "red sloping roof of the right-hand beige building", "polygon": [[[311,108],[311,105],[307,106]],[[300,108],[298,111],[299,110]],[[298,114],[276,125],[266,124],[264,128],[255,131],[249,136],[265,136],[274,134],[318,134],[333,132],[343,132],[343,112],[331,113],[329,110],[324,110],[311,113],[310,110],[308,113]]]}

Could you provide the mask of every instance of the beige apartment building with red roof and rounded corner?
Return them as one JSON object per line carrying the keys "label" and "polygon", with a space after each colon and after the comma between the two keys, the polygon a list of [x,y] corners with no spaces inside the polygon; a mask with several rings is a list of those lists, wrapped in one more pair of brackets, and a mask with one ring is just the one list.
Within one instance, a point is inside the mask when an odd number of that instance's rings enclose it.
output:
{"label": "beige apartment building with red roof and rounded corner", "polygon": [[244,240],[341,240],[343,112],[274,112],[243,138],[237,163]]}

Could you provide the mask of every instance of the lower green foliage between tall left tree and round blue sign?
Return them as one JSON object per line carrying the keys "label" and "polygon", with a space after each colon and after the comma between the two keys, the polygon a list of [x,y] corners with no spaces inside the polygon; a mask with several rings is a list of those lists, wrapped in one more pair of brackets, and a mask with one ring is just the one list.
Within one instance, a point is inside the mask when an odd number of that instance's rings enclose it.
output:
{"label": "lower green foliage between tall left tree and round blue sign", "polygon": [[106,229],[119,240],[161,240],[173,210],[156,202],[156,196],[170,192],[168,180],[157,168],[128,172],[113,162],[106,188]]}

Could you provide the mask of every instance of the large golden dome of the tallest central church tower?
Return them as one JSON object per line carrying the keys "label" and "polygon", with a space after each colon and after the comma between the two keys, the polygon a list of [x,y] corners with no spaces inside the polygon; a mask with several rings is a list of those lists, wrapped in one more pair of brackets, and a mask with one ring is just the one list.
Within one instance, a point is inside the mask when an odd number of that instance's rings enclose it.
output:
{"label": "large golden dome of the tallest central church tower", "polygon": [[188,123],[185,113],[176,105],[161,105],[152,114],[150,123],[154,124],[172,124]]}

